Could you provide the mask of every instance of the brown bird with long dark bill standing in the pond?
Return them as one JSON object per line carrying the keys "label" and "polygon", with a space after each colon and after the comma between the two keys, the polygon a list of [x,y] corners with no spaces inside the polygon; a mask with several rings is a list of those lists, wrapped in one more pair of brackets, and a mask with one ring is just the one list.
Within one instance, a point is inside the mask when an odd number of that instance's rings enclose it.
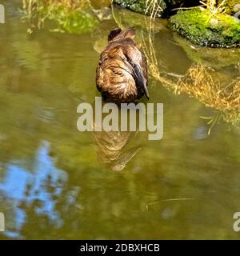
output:
{"label": "brown bird with long dark bill standing in the pond", "polygon": [[116,29],[108,36],[97,68],[96,83],[104,98],[114,102],[134,102],[147,90],[146,57],[134,42],[134,28]]}

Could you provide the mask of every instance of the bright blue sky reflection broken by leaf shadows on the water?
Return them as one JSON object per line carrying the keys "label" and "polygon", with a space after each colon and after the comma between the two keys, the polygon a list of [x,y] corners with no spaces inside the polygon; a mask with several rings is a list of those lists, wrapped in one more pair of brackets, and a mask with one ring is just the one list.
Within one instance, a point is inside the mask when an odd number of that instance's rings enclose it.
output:
{"label": "bright blue sky reflection broken by leaf shadows on the water", "polygon": [[[53,196],[62,194],[62,185],[66,183],[68,176],[65,171],[54,166],[53,158],[50,158],[49,143],[43,142],[34,158],[33,170],[22,168],[22,162],[14,162],[7,166],[6,177],[0,183],[0,191],[5,198],[13,201],[14,206],[14,228],[21,230],[26,222],[26,212],[18,208],[24,202],[26,206],[33,204],[36,200],[41,202],[35,207],[36,214],[45,214],[55,226],[62,226],[62,219],[54,210],[56,202]],[[60,182],[61,181],[61,182]],[[46,186],[47,184],[47,186]],[[53,190],[48,191],[49,187]],[[7,216],[6,216],[7,218]],[[10,232],[6,223],[5,234],[10,237],[18,237],[17,232]]]}

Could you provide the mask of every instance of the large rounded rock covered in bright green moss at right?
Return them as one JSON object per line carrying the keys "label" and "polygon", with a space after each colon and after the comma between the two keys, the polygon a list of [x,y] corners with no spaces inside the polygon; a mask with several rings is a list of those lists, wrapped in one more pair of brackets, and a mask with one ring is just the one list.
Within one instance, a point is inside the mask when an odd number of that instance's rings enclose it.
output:
{"label": "large rounded rock covered in bright green moss at right", "polygon": [[240,46],[240,21],[227,14],[211,14],[206,9],[180,10],[170,18],[170,27],[199,46]]}

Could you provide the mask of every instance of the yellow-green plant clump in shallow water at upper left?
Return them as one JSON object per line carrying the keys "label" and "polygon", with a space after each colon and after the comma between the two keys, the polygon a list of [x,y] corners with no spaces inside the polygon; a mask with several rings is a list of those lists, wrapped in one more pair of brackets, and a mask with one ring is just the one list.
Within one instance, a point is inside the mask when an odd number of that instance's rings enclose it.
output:
{"label": "yellow-green plant clump in shallow water at upper left", "polygon": [[[23,0],[24,19],[29,22],[29,33],[41,29],[47,20],[54,23],[54,31],[86,33],[98,25],[87,0]],[[51,26],[52,27],[52,26]]]}

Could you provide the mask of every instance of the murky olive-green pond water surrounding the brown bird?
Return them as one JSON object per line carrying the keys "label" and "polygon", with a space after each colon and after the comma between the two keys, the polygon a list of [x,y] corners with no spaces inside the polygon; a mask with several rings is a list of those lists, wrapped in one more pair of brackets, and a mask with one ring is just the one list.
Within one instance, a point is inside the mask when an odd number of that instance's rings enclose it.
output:
{"label": "murky olive-green pond water surrounding the brown bird", "polygon": [[[6,1],[6,24],[0,24],[0,212],[6,232],[0,238],[240,238],[233,230],[240,211],[238,127],[220,122],[209,136],[200,117],[215,110],[151,78],[150,102],[164,103],[162,140],[140,133],[111,142],[111,134],[80,133],[77,106],[99,95],[98,51],[117,26],[114,19],[102,21],[94,34],[27,35],[19,18],[18,2]],[[166,21],[158,25],[158,61],[167,72],[185,74],[193,59]],[[238,64],[222,73],[237,76]],[[123,142],[117,159],[101,150],[104,142]],[[113,171],[119,161],[123,170]]]}

